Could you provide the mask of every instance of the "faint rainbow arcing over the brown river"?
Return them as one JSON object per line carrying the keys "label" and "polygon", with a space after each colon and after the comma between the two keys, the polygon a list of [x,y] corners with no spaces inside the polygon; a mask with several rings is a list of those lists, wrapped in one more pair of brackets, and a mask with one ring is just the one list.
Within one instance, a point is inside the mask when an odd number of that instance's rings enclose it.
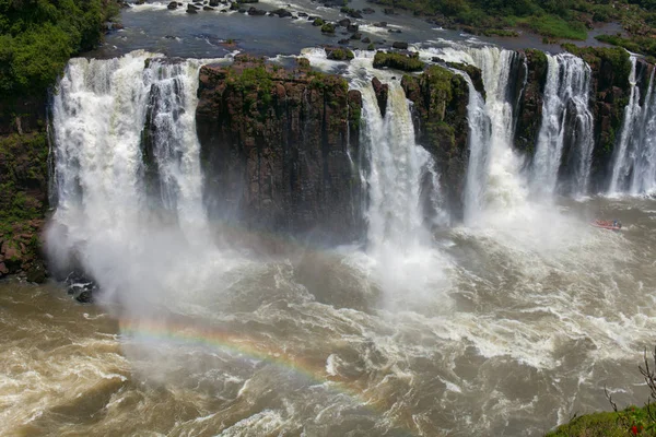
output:
{"label": "faint rainbow arcing over the brown river", "polygon": [[[313,383],[324,385],[329,390],[347,394],[354,402],[376,415],[385,414],[386,400],[368,398],[363,382],[349,381],[341,377],[331,376],[326,371],[325,359],[307,359],[286,350],[271,347],[265,340],[248,338],[243,333],[235,333],[216,327],[210,329],[198,323],[190,323],[188,320],[168,319],[165,322],[157,322],[154,320],[119,319],[119,328],[122,335],[141,341],[173,342],[220,350],[292,370],[295,375],[303,376]],[[326,385],[326,382],[329,383]],[[407,421],[400,423],[400,420],[394,422],[397,426],[403,428],[408,436],[417,435],[414,430],[411,430],[413,424],[407,423]]]}

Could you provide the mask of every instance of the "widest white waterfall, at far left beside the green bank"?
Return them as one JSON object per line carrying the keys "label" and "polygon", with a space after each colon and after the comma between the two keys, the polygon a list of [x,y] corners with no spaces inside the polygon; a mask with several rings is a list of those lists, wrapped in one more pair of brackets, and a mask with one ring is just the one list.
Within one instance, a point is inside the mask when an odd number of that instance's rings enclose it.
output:
{"label": "widest white waterfall, at far left beside the green bank", "polygon": [[201,63],[154,56],[72,59],[54,98],[52,258],[73,258],[96,276],[143,255],[157,223],[173,222],[186,238],[206,226],[195,122]]}

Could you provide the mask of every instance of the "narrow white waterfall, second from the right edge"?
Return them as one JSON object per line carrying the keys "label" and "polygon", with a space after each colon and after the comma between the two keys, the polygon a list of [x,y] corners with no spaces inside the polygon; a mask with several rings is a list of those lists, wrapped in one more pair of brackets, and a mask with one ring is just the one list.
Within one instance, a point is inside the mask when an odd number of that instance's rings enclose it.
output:
{"label": "narrow white waterfall, second from the right edge", "polygon": [[547,54],[548,70],[542,122],[532,162],[531,190],[555,191],[563,151],[569,150],[571,193],[585,193],[594,147],[594,121],[589,110],[590,68],[579,58]]}

